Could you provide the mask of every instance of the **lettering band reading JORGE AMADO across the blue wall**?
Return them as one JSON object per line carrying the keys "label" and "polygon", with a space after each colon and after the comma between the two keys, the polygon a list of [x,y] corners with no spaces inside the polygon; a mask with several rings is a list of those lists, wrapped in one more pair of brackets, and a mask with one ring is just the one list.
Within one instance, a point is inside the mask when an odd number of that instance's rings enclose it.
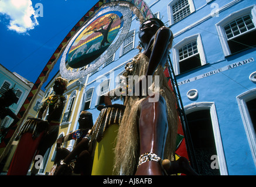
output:
{"label": "lettering band reading JORGE AMADO across the blue wall", "polygon": [[193,81],[196,81],[198,79],[205,78],[205,77],[210,77],[211,75],[215,75],[215,74],[218,74],[218,73],[223,72],[223,71],[231,70],[233,68],[240,67],[241,65],[252,63],[253,61],[254,61],[254,58],[248,58],[246,60],[242,60],[242,61],[239,61],[237,63],[226,65],[226,66],[224,66],[222,68],[216,68],[216,70],[206,72],[206,73],[204,73],[202,75],[198,75],[196,77],[189,78],[189,79],[186,79],[184,81],[180,81],[180,82],[178,82],[178,86],[185,85],[185,84],[187,84],[189,82],[193,82]]}

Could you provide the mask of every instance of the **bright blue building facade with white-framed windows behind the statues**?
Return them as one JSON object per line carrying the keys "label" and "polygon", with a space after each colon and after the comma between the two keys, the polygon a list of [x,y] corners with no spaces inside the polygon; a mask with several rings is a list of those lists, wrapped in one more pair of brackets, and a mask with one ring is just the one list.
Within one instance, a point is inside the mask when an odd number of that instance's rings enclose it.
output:
{"label": "bright blue building facade with white-framed windows behind the statues", "polygon": [[[255,175],[256,5],[243,0],[145,1],[174,35],[170,61],[178,82],[197,172]],[[81,110],[100,113],[101,96],[119,85],[138,54],[139,22],[121,47],[84,83]],[[122,103],[120,100],[112,103]],[[210,171],[209,171],[210,170]]]}

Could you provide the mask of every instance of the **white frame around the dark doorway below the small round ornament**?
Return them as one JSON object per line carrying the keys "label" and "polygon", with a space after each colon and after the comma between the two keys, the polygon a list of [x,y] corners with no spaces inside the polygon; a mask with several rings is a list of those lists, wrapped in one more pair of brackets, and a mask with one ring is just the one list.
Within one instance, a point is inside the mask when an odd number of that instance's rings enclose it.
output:
{"label": "white frame around the dark doorway below the small round ornament", "polygon": [[213,126],[213,135],[214,135],[214,140],[216,145],[217,158],[219,161],[220,175],[228,175],[226,158],[223,150],[223,144],[222,144],[221,134],[220,134],[220,126],[219,126],[215,104],[213,102],[198,102],[198,103],[192,103],[184,107],[186,115],[191,112],[195,112],[197,110],[205,110],[205,109],[210,109],[211,124]]}

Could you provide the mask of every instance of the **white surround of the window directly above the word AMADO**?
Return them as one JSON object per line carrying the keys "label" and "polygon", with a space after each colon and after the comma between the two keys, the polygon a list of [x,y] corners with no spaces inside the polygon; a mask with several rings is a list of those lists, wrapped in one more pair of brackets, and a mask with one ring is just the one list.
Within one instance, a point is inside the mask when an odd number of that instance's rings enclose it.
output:
{"label": "white surround of the window directly above the word AMADO", "polygon": [[[220,22],[216,23],[216,29],[217,29],[217,33],[219,35],[219,39],[220,39],[220,44],[224,53],[224,56],[229,56],[231,55],[231,51],[230,51],[230,47],[228,46],[228,40],[227,40],[227,36],[226,36],[226,32],[224,30],[224,26],[226,26],[228,23],[232,22],[235,19],[241,18],[245,15],[250,15],[251,16],[251,20],[254,23],[255,29],[256,29],[256,8],[255,5],[252,6],[248,6],[247,8],[241,9],[240,11],[237,12],[233,12],[230,15],[228,15],[226,18],[222,19]],[[251,31],[251,30],[250,30]],[[242,33],[243,34],[246,34]],[[239,35],[239,36],[241,36]]]}

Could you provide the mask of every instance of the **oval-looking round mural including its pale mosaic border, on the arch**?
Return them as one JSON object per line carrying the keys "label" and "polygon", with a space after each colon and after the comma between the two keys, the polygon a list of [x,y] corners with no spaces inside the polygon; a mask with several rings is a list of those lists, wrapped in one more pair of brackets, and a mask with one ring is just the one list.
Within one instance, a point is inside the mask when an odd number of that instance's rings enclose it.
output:
{"label": "oval-looking round mural including its pale mosaic border, on the arch", "polygon": [[[104,64],[125,40],[131,22],[132,11],[126,6],[113,5],[98,9],[64,49],[60,61],[62,77],[84,77]],[[83,68],[88,64],[88,68]],[[69,67],[74,71],[70,71]],[[81,70],[76,71],[78,68]]]}

